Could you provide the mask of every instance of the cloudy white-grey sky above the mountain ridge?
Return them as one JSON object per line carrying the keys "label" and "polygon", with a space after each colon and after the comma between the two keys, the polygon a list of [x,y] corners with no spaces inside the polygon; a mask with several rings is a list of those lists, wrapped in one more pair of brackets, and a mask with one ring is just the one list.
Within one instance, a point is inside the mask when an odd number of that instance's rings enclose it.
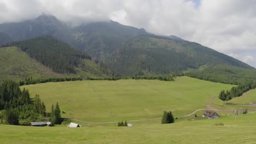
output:
{"label": "cloudy white-grey sky above the mountain ridge", "polygon": [[0,0],[0,23],[42,13],[73,26],[111,19],[176,35],[256,67],[255,0]]}

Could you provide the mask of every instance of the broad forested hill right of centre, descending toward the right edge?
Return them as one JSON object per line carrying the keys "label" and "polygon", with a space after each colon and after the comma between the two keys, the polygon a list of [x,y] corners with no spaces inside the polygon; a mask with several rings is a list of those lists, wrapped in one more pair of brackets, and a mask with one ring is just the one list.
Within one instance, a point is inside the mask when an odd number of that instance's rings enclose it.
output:
{"label": "broad forested hill right of centre, descending toward the right edge", "polygon": [[253,69],[235,58],[200,44],[155,35],[141,35],[127,41],[106,62],[119,74],[168,74],[173,71],[199,69],[202,65],[232,65]]}

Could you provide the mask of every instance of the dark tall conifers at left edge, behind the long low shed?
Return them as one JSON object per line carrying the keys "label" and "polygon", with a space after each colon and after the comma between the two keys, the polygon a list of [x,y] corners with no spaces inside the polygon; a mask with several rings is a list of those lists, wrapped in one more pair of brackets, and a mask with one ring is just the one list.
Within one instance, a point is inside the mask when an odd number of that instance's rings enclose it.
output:
{"label": "dark tall conifers at left edge, behind the long low shed", "polygon": [[[61,123],[59,104],[56,105],[54,113],[54,124]],[[14,125],[28,125],[33,121],[45,121],[46,108],[44,102],[36,94],[34,99],[30,98],[27,89],[20,90],[19,83],[4,81],[0,85],[0,118],[1,123]],[[4,121],[3,121],[4,120]]]}

